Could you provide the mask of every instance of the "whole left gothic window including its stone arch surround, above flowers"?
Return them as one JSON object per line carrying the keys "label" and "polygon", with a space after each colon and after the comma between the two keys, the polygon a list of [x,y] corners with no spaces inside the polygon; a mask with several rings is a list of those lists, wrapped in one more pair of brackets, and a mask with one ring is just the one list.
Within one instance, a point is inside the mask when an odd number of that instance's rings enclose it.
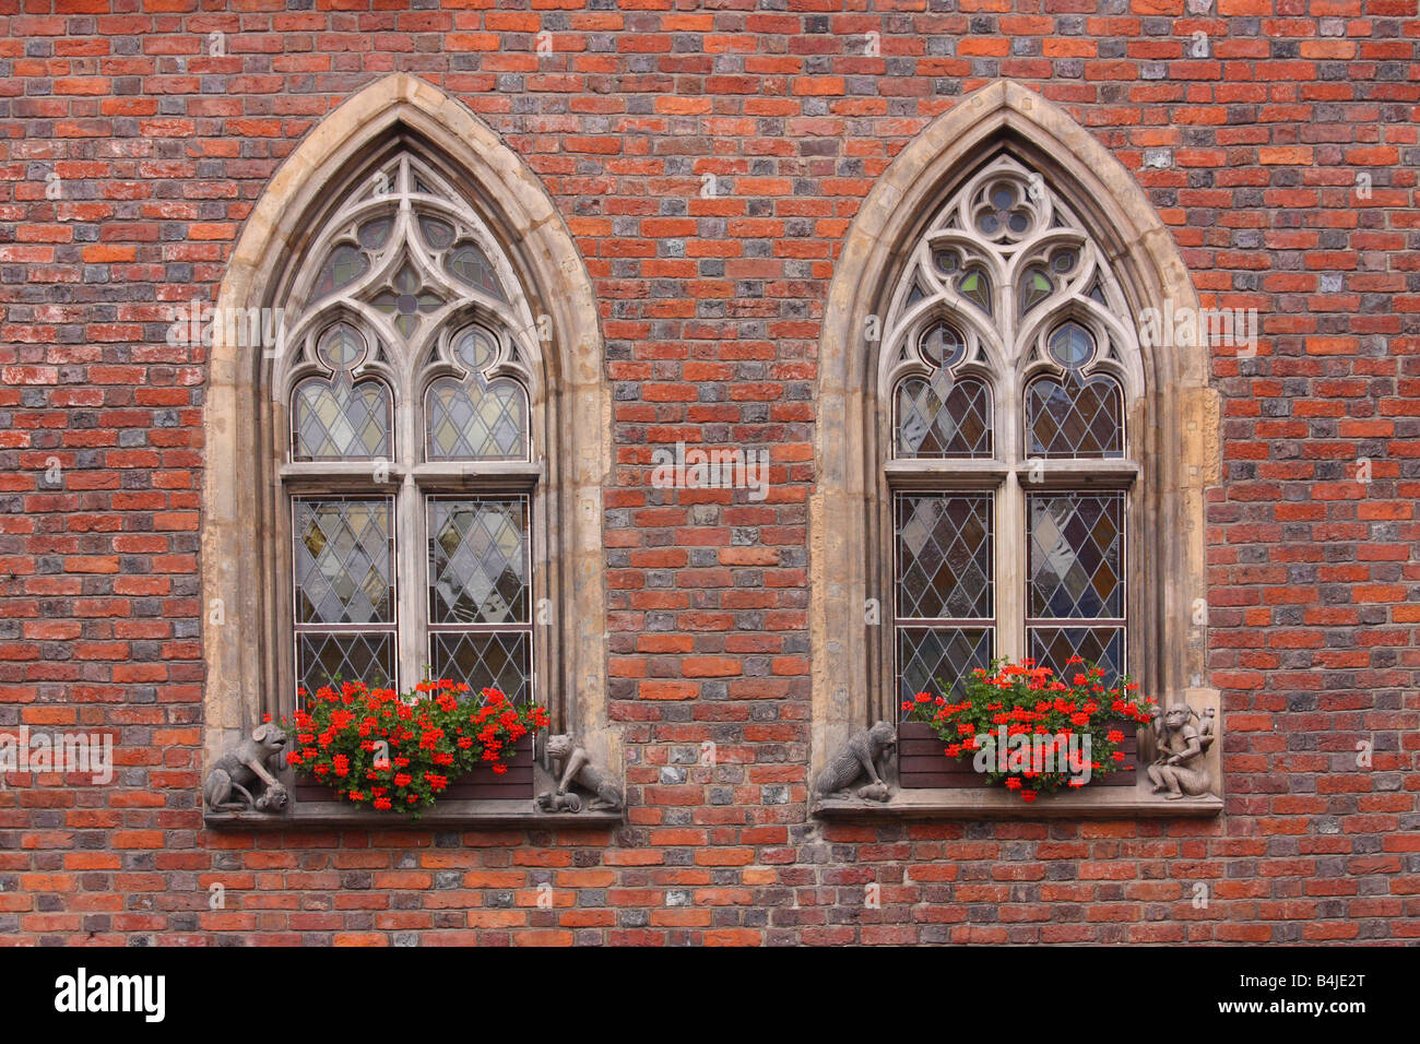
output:
{"label": "whole left gothic window including its stone arch surround, above flowers", "polygon": [[277,170],[216,315],[280,335],[212,347],[209,756],[317,675],[373,662],[400,687],[426,665],[483,672],[619,768],[602,341],[537,178],[462,104],[386,77]]}

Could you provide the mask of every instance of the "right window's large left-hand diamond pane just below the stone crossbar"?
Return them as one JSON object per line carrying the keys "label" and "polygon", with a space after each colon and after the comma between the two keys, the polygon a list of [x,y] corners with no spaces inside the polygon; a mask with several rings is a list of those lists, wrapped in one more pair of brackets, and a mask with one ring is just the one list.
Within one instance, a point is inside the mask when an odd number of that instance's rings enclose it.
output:
{"label": "right window's large left-hand diamond pane just below the stone crossbar", "polygon": [[991,497],[897,497],[897,618],[993,615]]}

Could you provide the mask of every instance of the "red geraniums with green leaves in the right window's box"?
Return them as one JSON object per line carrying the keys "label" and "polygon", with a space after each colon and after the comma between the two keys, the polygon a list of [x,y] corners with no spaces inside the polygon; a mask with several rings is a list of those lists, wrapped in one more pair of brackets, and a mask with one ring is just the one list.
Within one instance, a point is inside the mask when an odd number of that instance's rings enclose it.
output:
{"label": "red geraniums with green leaves in the right window's box", "polygon": [[[912,700],[903,700],[902,709],[909,722],[932,726],[946,744],[943,753],[947,757],[974,760],[981,750],[978,743],[990,740],[1003,746],[1003,736],[1004,751],[1012,747],[1024,750],[1025,744],[1014,740],[1024,736],[1030,739],[1032,753],[1055,756],[1052,764],[1061,766],[1068,751],[1082,753],[1088,739],[1091,778],[1129,768],[1120,749],[1125,733],[1112,724],[1120,720],[1150,722],[1153,702],[1137,697],[1135,692],[1139,686],[1129,679],[1106,687],[1102,668],[1071,656],[1066,666],[1075,665],[1081,669],[1072,673],[1071,683],[1065,683],[1049,668],[1037,666],[1035,660],[997,660],[990,670],[977,668],[971,672],[960,702],[920,692]],[[1001,758],[993,753],[985,761],[985,774],[991,783],[1004,783],[1007,790],[1020,794],[1022,801],[1034,801],[1041,793],[1062,787],[1083,785],[1082,771],[1035,771],[1031,766],[1012,767],[1008,754],[1004,757],[1007,768],[1003,771]],[[1082,770],[1083,763],[1078,767]]]}

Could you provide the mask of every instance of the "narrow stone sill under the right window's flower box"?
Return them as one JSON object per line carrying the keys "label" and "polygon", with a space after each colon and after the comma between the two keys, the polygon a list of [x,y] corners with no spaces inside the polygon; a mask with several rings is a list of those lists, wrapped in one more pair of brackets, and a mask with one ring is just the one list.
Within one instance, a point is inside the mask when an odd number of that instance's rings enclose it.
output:
{"label": "narrow stone sill under the right window's flower box", "polygon": [[1207,794],[1166,801],[1147,784],[1095,787],[1048,794],[1027,804],[1004,787],[896,790],[889,801],[826,798],[814,807],[821,820],[1176,820],[1211,818],[1223,798]]}

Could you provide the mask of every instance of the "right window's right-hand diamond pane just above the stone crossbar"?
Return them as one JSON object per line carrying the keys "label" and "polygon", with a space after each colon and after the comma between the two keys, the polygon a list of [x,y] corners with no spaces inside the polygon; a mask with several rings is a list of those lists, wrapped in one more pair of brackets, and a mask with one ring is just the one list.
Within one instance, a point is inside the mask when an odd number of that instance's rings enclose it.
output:
{"label": "right window's right-hand diamond pane just above the stone crossbar", "polygon": [[1079,382],[1042,378],[1025,392],[1025,436],[1031,456],[1123,456],[1119,385],[1108,376]]}

